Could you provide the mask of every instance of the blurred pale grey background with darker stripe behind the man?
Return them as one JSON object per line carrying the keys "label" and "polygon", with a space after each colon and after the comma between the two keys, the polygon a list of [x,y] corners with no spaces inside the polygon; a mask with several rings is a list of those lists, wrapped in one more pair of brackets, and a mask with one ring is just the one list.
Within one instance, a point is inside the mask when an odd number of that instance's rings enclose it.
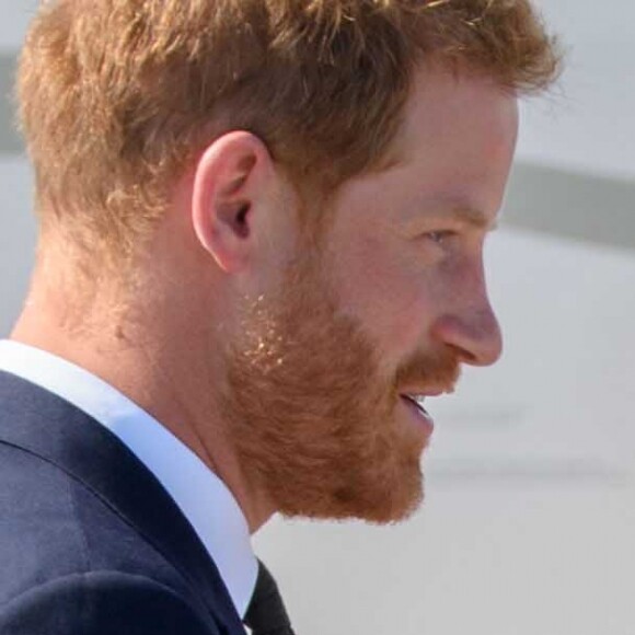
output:
{"label": "blurred pale grey background with darker stripe behind the man", "polygon": [[[0,336],[35,239],[10,93],[36,5],[4,1],[0,21]],[[635,634],[635,5],[538,5],[567,64],[522,106],[489,242],[505,355],[429,403],[411,521],[257,534],[300,635]]]}

